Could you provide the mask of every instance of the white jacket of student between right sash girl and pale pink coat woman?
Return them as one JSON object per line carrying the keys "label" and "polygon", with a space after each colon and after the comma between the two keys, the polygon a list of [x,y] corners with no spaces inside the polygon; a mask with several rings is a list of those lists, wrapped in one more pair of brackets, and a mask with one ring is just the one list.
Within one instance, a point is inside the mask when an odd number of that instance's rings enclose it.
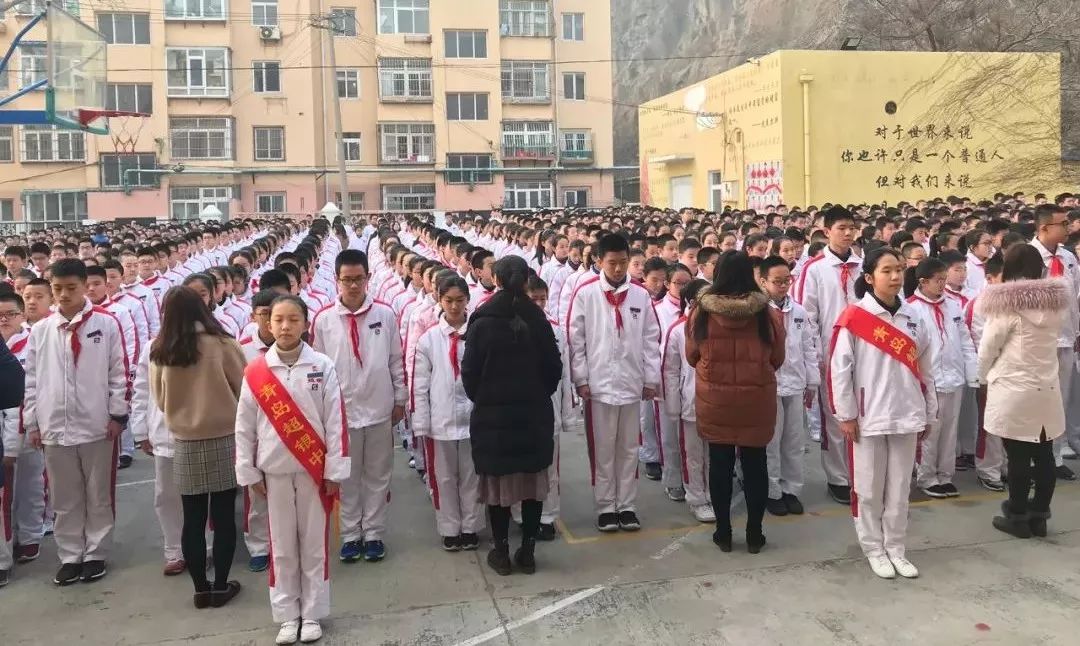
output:
{"label": "white jacket of student between right sash girl and pale pink coat woman", "polygon": [[975,344],[963,322],[963,311],[955,298],[933,299],[916,290],[907,302],[919,312],[937,345],[934,386],[937,392],[955,392],[964,386],[978,386],[978,359]]}

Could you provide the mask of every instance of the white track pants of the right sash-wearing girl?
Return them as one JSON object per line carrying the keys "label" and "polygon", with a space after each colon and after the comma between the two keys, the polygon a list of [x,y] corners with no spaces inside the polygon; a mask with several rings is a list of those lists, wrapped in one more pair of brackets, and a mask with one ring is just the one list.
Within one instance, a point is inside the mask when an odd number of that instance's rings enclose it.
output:
{"label": "white track pants of the right sash-wearing girl", "polygon": [[917,444],[917,433],[870,435],[847,443],[853,482],[851,513],[866,556],[904,556]]}

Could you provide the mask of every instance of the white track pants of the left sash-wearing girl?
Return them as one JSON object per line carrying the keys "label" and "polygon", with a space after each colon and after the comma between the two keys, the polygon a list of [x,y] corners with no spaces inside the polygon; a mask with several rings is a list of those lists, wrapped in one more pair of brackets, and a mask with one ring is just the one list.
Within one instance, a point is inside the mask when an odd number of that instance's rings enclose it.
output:
{"label": "white track pants of the left sash-wearing girl", "polygon": [[330,613],[330,515],[307,471],[267,473],[266,483],[273,620],[318,621]]}

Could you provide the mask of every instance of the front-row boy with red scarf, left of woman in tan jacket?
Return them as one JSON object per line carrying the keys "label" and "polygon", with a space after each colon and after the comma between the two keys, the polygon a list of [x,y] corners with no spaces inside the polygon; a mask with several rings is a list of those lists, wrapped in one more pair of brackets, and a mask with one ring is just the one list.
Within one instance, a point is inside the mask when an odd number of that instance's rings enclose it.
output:
{"label": "front-row boy with red scarf, left of woman in tan jacket", "polygon": [[127,362],[120,323],[86,299],[82,260],[58,260],[50,273],[56,311],[30,332],[23,422],[30,444],[45,448],[62,563],[53,582],[69,586],[105,576]]}

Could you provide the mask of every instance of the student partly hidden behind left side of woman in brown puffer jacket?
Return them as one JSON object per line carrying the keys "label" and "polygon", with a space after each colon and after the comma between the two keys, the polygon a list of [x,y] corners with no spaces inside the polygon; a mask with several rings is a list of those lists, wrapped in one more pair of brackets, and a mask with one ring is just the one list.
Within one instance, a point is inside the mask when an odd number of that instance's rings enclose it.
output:
{"label": "student partly hidden behind left side of woman in brown puffer jacket", "polygon": [[686,360],[686,312],[708,281],[696,279],[683,286],[680,314],[664,333],[661,381],[664,414],[677,419],[678,462],[690,513],[699,523],[715,523],[708,490],[708,443],[698,434],[697,374]]}

